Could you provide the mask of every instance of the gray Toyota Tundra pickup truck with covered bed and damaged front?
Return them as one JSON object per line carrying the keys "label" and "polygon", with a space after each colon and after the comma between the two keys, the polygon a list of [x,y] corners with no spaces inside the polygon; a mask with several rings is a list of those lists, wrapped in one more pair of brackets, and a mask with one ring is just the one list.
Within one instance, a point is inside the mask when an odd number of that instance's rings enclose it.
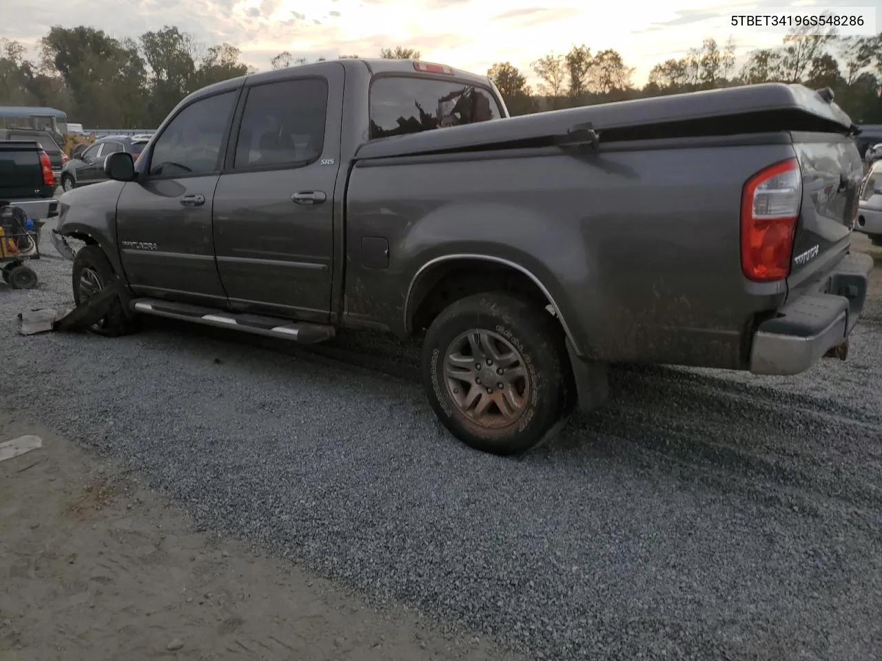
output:
{"label": "gray Toyota Tundra pickup truck with covered bed and damaged front", "polygon": [[[422,339],[430,403],[512,454],[609,363],[793,375],[844,358],[871,259],[829,90],[753,85],[510,118],[487,78],[348,59],[191,94],[65,193],[83,301],[298,342]],[[74,255],[64,237],[86,241]]]}

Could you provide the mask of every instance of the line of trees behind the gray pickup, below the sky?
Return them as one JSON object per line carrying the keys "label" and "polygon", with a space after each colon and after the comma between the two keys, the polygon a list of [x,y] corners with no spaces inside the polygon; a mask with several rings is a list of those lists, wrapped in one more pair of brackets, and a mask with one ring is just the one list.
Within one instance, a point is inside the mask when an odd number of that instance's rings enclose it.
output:
{"label": "line of trees behind the gray pickup, below the sky", "polygon": [[[487,75],[512,115],[613,100],[693,92],[763,82],[830,87],[857,123],[882,123],[882,33],[840,37],[834,30],[789,33],[776,48],[751,52],[736,71],[736,43],[706,39],[681,58],[656,64],[646,85],[633,84],[633,67],[616,50],[585,44],[551,52],[527,73],[495,63]],[[0,105],[49,106],[88,128],[153,128],[188,93],[254,71],[229,43],[206,46],[176,26],[136,39],[117,39],[93,27],[52,27],[37,61],[17,41],[0,40]],[[388,59],[419,59],[415,48],[383,48]],[[357,57],[340,56],[343,57]],[[324,58],[318,58],[319,61]],[[308,63],[283,51],[273,69]]]}

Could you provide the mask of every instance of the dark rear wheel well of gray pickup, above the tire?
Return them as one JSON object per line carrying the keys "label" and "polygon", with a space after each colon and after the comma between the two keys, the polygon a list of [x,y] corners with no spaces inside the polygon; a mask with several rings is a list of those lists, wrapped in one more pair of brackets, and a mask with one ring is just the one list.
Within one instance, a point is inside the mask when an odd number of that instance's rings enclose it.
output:
{"label": "dark rear wheel well of gray pickup, above the tire", "polygon": [[411,292],[409,326],[420,333],[454,301],[481,292],[509,292],[533,301],[541,308],[551,301],[525,273],[481,259],[463,259],[438,264],[416,283]]}

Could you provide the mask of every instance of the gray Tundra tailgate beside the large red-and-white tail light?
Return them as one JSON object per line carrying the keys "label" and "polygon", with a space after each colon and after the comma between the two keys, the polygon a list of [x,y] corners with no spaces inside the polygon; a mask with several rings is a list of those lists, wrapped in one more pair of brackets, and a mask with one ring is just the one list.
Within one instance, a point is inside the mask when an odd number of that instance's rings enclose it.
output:
{"label": "gray Tundra tailgate beside the large red-and-white tail light", "polygon": [[832,133],[793,134],[803,199],[793,243],[788,288],[822,279],[850,245],[863,163],[855,141]]}

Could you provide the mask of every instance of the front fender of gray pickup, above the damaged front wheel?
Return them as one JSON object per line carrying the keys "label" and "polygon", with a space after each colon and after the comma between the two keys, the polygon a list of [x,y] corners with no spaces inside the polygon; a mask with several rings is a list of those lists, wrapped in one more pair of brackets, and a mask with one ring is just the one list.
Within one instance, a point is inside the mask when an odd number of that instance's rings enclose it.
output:
{"label": "front fender of gray pickup, above the damaged front wheel", "polygon": [[[123,282],[126,279],[116,241],[116,202],[124,185],[124,182],[108,181],[63,193],[58,198],[58,224],[55,230],[61,238],[70,236],[101,248],[108,256],[116,276]],[[62,250],[59,252],[64,255]],[[72,252],[69,258],[72,258]]]}

